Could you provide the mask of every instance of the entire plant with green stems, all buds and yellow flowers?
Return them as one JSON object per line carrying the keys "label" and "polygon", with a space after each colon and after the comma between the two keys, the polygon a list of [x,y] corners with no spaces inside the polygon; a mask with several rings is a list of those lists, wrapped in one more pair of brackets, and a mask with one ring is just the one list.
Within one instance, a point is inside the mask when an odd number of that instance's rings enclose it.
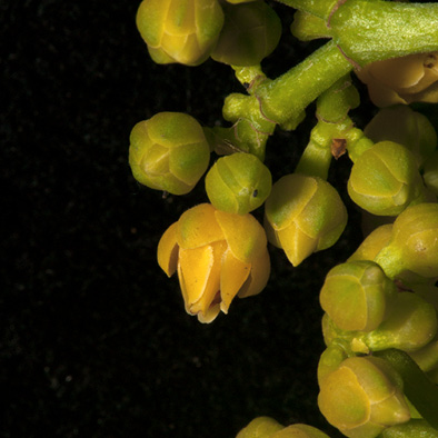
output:
{"label": "entire plant with green stems, all buds and yellow flowers", "polygon": [[[137,28],[153,61],[226,63],[247,91],[225,101],[230,128],[202,127],[179,112],[133,127],[129,163],[141,185],[186,195],[206,175],[209,202],[186,210],[166,230],[158,263],[169,277],[178,273],[186,311],[213,321],[235,297],[266,287],[268,242],[293,267],[337,242],[348,215],[328,170],[332,158],[348,153],[346,191],[369,233],[320,290],[327,348],[318,366],[318,405],[347,437],[438,437],[438,392],[429,385],[438,382],[438,139],[432,122],[408,107],[438,102],[437,4],[281,2],[297,9],[295,37],[330,41],[273,80],[260,63],[282,29],[266,1],[139,6]],[[352,70],[380,107],[364,130],[349,118],[360,100]],[[276,127],[295,129],[312,101],[317,123],[298,165],[272,181],[267,140]],[[259,208],[263,212],[253,213]],[[258,417],[237,436],[289,437],[327,435]]]}

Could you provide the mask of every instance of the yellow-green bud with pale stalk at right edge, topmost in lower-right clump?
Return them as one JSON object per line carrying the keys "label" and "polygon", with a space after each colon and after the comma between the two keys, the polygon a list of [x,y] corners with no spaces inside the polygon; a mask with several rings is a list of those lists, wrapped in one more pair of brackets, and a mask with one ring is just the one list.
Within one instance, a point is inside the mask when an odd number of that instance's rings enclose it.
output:
{"label": "yellow-green bud with pale stalk at right edge, topmost in lower-right clump", "polygon": [[438,203],[419,203],[399,215],[389,243],[375,261],[390,278],[404,271],[438,277]]}

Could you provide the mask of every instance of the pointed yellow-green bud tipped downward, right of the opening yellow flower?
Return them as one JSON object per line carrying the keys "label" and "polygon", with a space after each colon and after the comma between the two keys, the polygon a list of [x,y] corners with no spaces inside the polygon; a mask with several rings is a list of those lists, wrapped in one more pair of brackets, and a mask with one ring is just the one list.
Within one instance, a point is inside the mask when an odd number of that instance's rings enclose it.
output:
{"label": "pointed yellow-green bud tipped downward, right of the opening yellow flower", "polygon": [[318,177],[292,173],[280,178],[265,206],[268,239],[285,250],[293,266],[335,245],[347,223],[340,196]]}

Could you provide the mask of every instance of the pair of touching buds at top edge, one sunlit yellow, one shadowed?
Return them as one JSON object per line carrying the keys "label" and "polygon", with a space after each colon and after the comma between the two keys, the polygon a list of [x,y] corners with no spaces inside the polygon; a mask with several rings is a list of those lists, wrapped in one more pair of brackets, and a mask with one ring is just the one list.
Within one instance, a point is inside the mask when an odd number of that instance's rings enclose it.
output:
{"label": "pair of touching buds at top edge, one sunlit yellow, one shadowed", "polygon": [[273,9],[253,0],[143,0],[137,28],[156,62],[186,66],[210,56],[230,66],[253,66],[281,34]]}

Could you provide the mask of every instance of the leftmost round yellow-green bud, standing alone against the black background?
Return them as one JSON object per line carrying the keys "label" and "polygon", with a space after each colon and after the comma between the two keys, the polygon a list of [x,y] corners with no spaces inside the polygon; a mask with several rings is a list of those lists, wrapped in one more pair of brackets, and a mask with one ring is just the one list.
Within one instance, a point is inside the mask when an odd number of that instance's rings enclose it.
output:
{"label": "leftmost round yellow-green bud, standing alone against the black background", "polygon": [[159,112],[131,131],[132,175],[151,189],[188,193],[207,170],[209,160],[210,148],[202,127],[182,112]]}

